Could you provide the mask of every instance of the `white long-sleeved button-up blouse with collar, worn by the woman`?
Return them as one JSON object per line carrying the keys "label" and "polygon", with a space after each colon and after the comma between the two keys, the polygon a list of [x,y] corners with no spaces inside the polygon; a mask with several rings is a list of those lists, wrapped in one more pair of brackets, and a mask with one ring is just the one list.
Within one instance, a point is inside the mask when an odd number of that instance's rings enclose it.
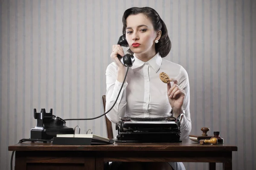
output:
{"label": "white long-sleeved button-up blouse with collar, worn by the woman", "polygon": [[[159,78],[161,72],[165,72],[170,78],[178,81],[186,96],[183,103],[185,115],[180,122],[181,139],[188,138],[191,131],[191,119],[189,111],[189,78],[186,70],[174,62],[163,59],[157,53],[148,62],[143,62],[134,55],[135,61],[129,68],[125,84],[119,98],[106,114],[108,119],[117,123],[120,117],[163,117],[172,116],[171,105],[167,95],[167,84]],[[117,66],[114,62],[106,69],[106,111],[116,100],[122,82],[118,82]],[[173,85],[173,82],[171,82]]]}

